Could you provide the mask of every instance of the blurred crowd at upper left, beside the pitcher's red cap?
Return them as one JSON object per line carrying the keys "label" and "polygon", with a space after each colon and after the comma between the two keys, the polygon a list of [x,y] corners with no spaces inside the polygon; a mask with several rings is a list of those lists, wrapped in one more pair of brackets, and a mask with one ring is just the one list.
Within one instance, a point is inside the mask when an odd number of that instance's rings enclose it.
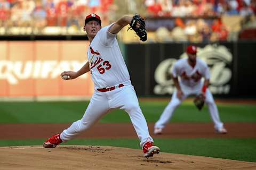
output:
{"label": "blurred crowd at upper left, beside the pitcher's red cap", "polygon": [[98,13],[108,22],[113,0],[0,0],[0,27],[73,27],[80,30],[85,16]]}

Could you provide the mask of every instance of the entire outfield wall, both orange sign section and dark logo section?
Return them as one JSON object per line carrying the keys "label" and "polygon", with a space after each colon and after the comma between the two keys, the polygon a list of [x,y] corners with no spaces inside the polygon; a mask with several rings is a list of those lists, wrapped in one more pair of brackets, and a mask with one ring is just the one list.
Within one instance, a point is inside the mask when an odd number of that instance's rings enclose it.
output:
{"label": "entire outfield wall, both orange sign section and dark logo section", "polygon": [[[186,43],[125,44],[124,58],[139,96],[169,96],[174,84],[172,65]],[[211,70],[213,95],[222,97],[256,96],[256,42],[197,44],[198,57]],[[86,40],[0,41],[0,99],[90,98],[93,82],[90,73],[65,81],[60,73],[77,71],[87,61]],[[71,97],[71,98],[70,98]]]}

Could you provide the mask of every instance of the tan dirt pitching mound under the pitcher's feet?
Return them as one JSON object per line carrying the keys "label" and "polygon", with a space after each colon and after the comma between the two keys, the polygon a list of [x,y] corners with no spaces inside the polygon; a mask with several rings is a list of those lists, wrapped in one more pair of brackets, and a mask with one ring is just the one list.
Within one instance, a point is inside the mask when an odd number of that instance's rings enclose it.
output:
{"label": "tan dirt pitching mound under the pitcher's feet", "polygon": [[0,147],[1,169],[255,169],[256,163],[108,146]]}

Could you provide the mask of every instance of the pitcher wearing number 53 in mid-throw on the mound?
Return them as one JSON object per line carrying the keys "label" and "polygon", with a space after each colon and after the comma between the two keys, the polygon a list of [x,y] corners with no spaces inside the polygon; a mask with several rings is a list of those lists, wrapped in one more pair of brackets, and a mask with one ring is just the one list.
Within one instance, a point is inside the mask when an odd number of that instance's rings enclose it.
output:
{"label": "pitcher wearing number 53 in mid-throw on the mound", "polygon": [[147,122],[141,112],[137,95],[116,40],[116,34],[129,23],[138,29],[142,27],[139,22],[134,21],[134,16],[123,16],[117,22],[101,29],[100,16],[97,14],[86,16],[84,31],[90,41],[87,50],[88,62],[77,72],[65,71],[61,73],[61,76],[71,80],[90,71],[95,91],[82,119],[71,124],[62,133],[47,139],[43,143],[43,147],[55,148],[61,142],[74,139],[111,109],[118,108],[129,114],[140,139],[144,156],[148,158],[159,153],[159,148],[153,145],[153,139],[149,135]]}

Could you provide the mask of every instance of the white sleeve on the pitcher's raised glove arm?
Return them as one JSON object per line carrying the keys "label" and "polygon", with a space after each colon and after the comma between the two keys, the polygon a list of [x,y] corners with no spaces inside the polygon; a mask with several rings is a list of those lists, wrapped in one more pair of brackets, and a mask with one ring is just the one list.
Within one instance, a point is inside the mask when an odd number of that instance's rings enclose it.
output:
{"label": "white sleeve on the pitcher's raised glove arm", "polygon": [[110,33],[108,30],[110,29],[110,27],[113,25],[114,23],[103,27],[102,29],[100,29],[100,31],[98,32],[98,36],[100,39],[100,42],[103,46],[106,47],[111,47],[114,43],[114,40],[116,39],[116,34]]}

